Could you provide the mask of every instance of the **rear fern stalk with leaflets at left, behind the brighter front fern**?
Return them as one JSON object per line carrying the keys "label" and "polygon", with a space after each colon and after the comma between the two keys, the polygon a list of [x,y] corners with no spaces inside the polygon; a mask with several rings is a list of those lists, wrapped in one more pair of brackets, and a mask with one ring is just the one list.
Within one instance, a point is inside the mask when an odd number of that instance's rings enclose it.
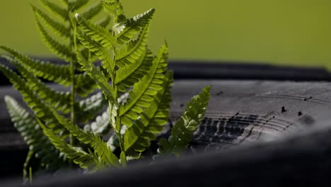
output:
{"label": "rear fern stalk with leaflets at left, behind the brighter front fern", "polygon": [[[17,102],[11,98],[6,98],[6,104],[8,110],[11,111],[13,123],[19,124],[16,125],[16,128],[30,147],[30,154],[28,154],[25,164],[25,173],[27,173],[26,169],[30,159],[37,162],[39,160],[38,165],[42,170],[54,171],[63,164],[63,154],[62,157],[59,157],[59,151],[54,146],[50,146],[52,145],[50,141],[45,141],[47,137],[43,135],[42,129],[35,118],[38,118],[47,128],[51,129],[54,135],[67,141],[68,138],[73,139],[72,135],[69,135],[69,131],[58,122],[51,109],[62,113],[62,115],[69,115],[70,120],[77,123],[92,123],[91,120],[102,112],[102,109],[107,105],[100,94],[93,94],[98,85],[86,72],[81,71],[81,66],[77,63],[73,42],[74,27],[69,19],[71,17],[70,10],[86,12],[90,18],[100,14],[100,10],[88,11],[88,1],[81,0],[64,1],[63,4],[54,4],[50,0],[41,0],[40,2],[43,7],[50,10],[47,12],[37,8],[37,6],[32,6],[40,35],[47,47],[69,64],[54,64],[34,60],[10,47],[0,46],[0,50],[4,50],[11,55],[10,57],[3,57],[18,70],[16,73],[0,64],[1,72],[21,92],[23,101],[33,111],[33,114],[23,111],[23,108]],[[102,1],[95,2],[95,5],[102,9]],[[106,19],[97,20],[96,22],[109,20],[109,16],[104,15],[103,17]],[[109,24],[103,23],[103,26],[107,25]],[[43,79],[52,81],[54,84],[70,86],[70,89],[66,91],[54,90],[50,87],[50,84],[45,84],[42,81]],[[52,108],[49,108],[48,105],[51,105]],[[20,123],[18,120],[22,120],[22,122]],[[42,145],[46,147],[41,147]],[[74,142],[71,146],[73,145]],[[34,171],[36,170],[34,169]]]}

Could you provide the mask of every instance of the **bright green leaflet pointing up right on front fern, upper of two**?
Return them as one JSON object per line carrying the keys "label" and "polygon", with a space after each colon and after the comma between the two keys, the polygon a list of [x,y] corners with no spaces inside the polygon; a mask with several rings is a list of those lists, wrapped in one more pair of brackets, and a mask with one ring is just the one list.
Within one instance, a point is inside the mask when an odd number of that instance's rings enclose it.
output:
{"label": "bright green leaflet pointing up right on front fern, upper of two", "polygon": [[168,67],[168,47],[161,47],[158,56],[153,60],[153,65],[141,81],[134,84],[129,91],[129,98],[124,106],[120,106],[121,122],[124,125],[132,126],[132,120],[137,120],[143,108],[149,107],[153,96],[163,89],[164,72]]}

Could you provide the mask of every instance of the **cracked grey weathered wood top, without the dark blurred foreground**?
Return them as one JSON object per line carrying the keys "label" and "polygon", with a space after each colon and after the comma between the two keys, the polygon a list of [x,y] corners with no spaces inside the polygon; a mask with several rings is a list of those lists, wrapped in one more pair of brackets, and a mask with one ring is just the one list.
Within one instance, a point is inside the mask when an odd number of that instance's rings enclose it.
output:
{"label": "cracked grey weathered wood top, without the dark blurred foreground", "polygon": [[[331,84],[292,81],[175,81],[170,115],[173,122],[181,115],[185,103],[205,85],[212,85],[211,99],[192,148],[223,149],[279,140],[331,125]],[[11,86],[1,88],[0,149],[24,149],[25,143],[6,111],[5,95],[21,98]]]}

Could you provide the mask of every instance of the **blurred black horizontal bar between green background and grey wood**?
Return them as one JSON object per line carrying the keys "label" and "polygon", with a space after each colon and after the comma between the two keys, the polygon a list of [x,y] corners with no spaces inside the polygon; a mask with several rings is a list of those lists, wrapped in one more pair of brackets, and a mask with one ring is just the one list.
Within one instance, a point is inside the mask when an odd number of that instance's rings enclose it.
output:
{"label": "blurred black horizontal bar between green background and grey wood", "polygon": [[[45,58],[55,64],[65,64],[61,60]],[[0,59],[15,70],[12,64]],[[169,69],[175,79],[255,79],[255,80],[290,80],[290,81],[331,81],[331,74],[323,67],[290,67],[254,62],[210,62],[170,60]],[[0,72],[0,85],[10,84]]]}

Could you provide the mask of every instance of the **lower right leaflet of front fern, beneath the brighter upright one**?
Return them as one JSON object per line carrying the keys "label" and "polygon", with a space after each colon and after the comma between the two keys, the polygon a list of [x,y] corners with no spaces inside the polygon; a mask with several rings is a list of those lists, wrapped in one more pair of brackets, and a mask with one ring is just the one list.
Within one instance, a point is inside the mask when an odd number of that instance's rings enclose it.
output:
{"label": "lower right leaflet of front fern, beneath the brighter upright one", "polygon": [[131,156],[133,149],[135,152],[143,152],[150,146],[151,140],[156,139],[156,134],[161,132],[163,125],[168,122],[170,113],[170,89],[173,84],[173,74],[167,72],[163,86],[165,89],[158,91],[151,102],[151,106],[141,113],[141,119],[136,120],[132,127],[124,132],[124,151]]}

